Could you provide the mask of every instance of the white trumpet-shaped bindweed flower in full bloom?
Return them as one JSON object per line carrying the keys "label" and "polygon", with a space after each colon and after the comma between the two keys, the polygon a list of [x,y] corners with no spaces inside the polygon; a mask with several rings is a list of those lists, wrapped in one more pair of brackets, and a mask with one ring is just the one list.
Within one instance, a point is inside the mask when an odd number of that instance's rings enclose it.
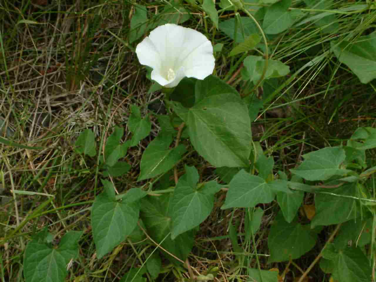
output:
{"label": "white trumpet-shaped bindweed flower in full bloom", "polygon": [[136,47],[140,64],[153,69],[152,79],[175,87],[184,77],[204,79],[214,70],[211,42],[202,33],[164,24],[156,27]]}

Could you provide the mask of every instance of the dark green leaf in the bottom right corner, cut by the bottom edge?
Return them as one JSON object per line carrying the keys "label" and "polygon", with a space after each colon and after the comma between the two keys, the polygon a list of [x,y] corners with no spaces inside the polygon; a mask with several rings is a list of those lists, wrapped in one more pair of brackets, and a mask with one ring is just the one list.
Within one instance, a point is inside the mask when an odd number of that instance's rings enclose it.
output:
{"label": "dark green leaf in the bottom right corner, cut by the bottom edge", "polygon": [[372,280],[370,262],[360,248],[340,250],[334,261],[334,280],[341,282],[369,282]]}

